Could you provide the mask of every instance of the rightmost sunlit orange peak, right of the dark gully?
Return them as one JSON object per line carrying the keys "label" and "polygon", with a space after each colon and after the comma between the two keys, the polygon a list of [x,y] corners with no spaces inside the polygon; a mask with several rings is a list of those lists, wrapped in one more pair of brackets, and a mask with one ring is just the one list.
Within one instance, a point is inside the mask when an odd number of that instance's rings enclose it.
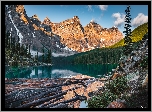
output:
{"label": "rightmost sunlit orange peak, right of the dark gully", "polygon": [[88,41],[88,48],[102,48],[111,46],[123,38],[118,28],[102,28],[95,22],[90,22],[84,27],[85,38]]}

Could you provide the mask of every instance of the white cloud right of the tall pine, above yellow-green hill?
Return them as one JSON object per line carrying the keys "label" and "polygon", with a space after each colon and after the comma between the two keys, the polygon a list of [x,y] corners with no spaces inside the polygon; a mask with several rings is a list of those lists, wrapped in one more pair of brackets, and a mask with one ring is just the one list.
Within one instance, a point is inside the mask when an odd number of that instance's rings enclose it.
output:
{"label": "white cloud right of the tall pine, above yellow-green hill", "polygon": [[138,16],[132,20],[132,26],[137,27],[146,22],[148,22],[148,16],[143,13],[139,13]]}

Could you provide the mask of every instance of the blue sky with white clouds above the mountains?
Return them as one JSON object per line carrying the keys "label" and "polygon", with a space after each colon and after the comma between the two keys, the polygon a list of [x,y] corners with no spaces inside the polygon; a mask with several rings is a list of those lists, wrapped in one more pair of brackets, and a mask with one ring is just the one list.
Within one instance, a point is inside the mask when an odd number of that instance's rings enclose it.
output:
{"label": "blue sky with white clouds above the mountains", "polygon": [[[148,22],[148,5],[130,6],[131,29],[133,30]],[[103,28],[116,26],[122,33],[126,7],[127,5],[24,5],[28,17],[36,14],[40,21],[48,17],[51,22],[59,23],[78,16],[83,27],[93,20]]]}

